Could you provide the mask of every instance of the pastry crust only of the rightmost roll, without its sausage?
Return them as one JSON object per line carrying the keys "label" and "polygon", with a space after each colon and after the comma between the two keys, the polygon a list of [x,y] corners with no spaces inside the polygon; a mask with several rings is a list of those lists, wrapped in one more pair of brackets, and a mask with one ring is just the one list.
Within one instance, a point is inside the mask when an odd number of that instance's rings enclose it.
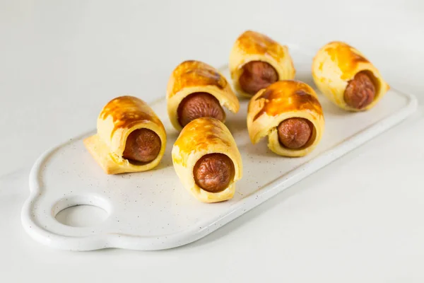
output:
{"label": "pastry crust only of the rightmost roll, without its sausage", "polygon": [[[365,71],[375,85],[375,98],[365,108],[356,109],[346,104],[344,92],[348,82],[355,74]],[[389,91],[389,85],[384,81],[377,68],[354,47],[344,42],[330,42],[322,47],[312,62],[312,77],[324,96],[344,110],[363,111],[374,107]]]}

